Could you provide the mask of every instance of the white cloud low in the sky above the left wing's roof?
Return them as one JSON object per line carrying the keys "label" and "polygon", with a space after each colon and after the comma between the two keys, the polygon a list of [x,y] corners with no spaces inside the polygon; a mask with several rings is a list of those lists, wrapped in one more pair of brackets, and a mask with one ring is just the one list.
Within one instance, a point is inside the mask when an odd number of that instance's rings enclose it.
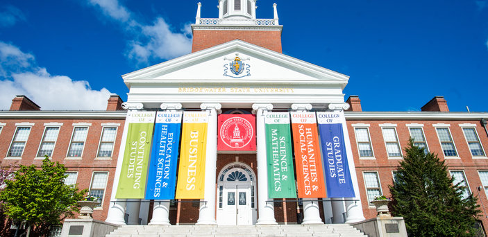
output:
{"label": "white cloud low in the sky above the left wing's roof", "polygon": [[12,98],[25,95],[43,110],[105,110],[108,89],[90,88],[85,80],[53,76],[37,67],[34,56],[12,44],[0,42],[0,109],[9,109]]}

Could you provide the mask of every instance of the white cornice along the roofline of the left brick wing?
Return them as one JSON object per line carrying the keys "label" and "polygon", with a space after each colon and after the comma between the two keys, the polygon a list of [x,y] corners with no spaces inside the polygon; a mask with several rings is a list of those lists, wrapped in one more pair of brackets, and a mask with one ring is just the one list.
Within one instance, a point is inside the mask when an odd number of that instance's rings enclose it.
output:
{"label": "white cornice along the roofline of the left brick wing", "polygon": [[0,111],[0,119],[126,119],[126,111]]}

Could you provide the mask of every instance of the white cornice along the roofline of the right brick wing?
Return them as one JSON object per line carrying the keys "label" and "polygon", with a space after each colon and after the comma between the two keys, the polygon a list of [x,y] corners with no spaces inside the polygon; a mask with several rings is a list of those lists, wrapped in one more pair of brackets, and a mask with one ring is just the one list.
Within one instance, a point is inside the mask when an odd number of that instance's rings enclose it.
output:
{"label": "white cornice along the roofline of the right brick wing", "polygon": [[346,120],[480,120],[488,112],[344,112]]}

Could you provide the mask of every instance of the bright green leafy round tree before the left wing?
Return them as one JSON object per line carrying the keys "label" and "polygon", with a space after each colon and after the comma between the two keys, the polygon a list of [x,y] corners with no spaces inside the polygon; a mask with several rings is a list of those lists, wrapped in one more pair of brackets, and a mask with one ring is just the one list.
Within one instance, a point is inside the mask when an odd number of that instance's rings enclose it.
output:
{"label": "bright green leafy round tree before the left wing", "polygon": [[87,192],[78,191],[76,184],[65,184],[66,177],[65,166],[51,162],[48,157],[40,169],[35,165],[19,166],[0,192],[1,207],[12,220],[25,221],[28,234],[31,227],[49,229],[60,225],[79,211],[76,202]]}

